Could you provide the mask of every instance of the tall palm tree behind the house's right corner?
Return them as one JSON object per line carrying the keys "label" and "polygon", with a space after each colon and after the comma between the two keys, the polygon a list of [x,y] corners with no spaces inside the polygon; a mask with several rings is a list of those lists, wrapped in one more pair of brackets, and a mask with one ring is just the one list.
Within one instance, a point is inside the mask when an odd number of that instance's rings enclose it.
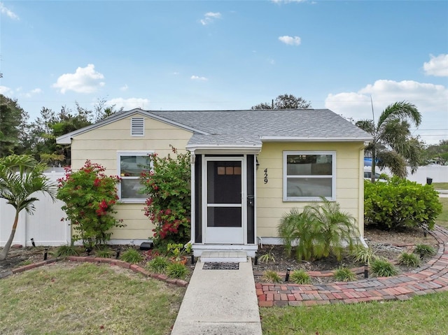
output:
{"label": "tall palm tree behind the house's right corner", "polygon": [[[372,155],[372,182],[374,169],[388,167],[395,176],[407,176],[406,166],[411,166],[414,173],[419,166],[421,144],[411,136],[409,127],[421,123],[421,113],[416,106],[406,101],[395,102],[379,115],[378,123],[374,120],[359,120],[356,125],[367,131],[373,141],[366,145],[365,152]],[[378,160],[378,163],[377,163]]]}

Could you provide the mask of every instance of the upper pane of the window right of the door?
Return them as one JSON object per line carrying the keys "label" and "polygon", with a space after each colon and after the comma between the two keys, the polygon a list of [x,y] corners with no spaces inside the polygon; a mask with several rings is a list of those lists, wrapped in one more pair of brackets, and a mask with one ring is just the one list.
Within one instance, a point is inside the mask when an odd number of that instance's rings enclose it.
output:
{"label": "upper pane of the window right of the door", "polygon": [[332,155],[288,155],[288,176],[331,176]]}

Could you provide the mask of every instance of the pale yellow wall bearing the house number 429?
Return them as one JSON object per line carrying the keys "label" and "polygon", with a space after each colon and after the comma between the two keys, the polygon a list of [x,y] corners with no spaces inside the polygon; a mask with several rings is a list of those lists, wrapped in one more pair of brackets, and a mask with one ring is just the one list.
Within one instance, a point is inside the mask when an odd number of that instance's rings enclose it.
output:
{"label": "pale yellow wall bearing the house number 429", "polygon": [[[306,201],[283,201],[283,151],[335,151],[336,201],[364,227],[363,143],[263,143],[257,169],[257,236],[276,237],[283,214],[303,208]],[[267,169],[267,183],[265,183]]]}

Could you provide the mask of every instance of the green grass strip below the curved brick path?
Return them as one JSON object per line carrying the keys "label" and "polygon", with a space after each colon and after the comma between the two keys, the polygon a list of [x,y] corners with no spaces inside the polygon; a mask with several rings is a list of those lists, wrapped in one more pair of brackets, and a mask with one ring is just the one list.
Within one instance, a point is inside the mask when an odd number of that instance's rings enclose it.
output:
{"label": "green grass strip below the curved brick path", "polygon": [[260,308],[263,335],[446,334],[448,292],[407,301]]}

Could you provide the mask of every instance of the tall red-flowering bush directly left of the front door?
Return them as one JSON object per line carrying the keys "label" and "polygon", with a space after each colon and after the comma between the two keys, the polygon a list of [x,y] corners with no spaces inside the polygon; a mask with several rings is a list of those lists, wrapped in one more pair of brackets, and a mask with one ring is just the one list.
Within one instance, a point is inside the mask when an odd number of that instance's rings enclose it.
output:
{"label": "tall red-flowering bush directly left of the front door", "polygon": [[142,193],[146,199],[145,215],[156,224],[154,244],[186,243],[190,240],[191,187],[190,152],[167,157],[151,155],[152,166],[141,174]]}

